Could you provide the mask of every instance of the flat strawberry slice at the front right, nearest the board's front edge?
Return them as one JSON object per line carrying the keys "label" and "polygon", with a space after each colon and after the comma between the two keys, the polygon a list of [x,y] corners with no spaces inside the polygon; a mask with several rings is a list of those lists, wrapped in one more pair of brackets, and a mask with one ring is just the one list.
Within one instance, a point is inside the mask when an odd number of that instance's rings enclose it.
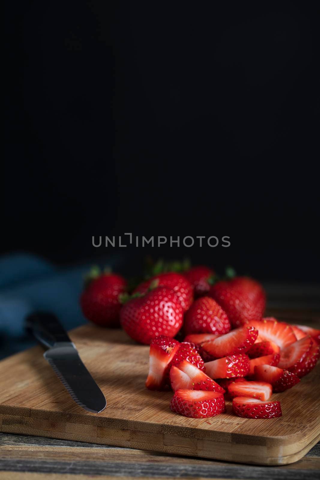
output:
{"label": "flat strawberry slice at the front right, nearest the board's front edge", "polygon": [[232,411],[238,417],[249,419],[272,419],[282,416],[280,402],[261,402],[245,396],[233,399]]}

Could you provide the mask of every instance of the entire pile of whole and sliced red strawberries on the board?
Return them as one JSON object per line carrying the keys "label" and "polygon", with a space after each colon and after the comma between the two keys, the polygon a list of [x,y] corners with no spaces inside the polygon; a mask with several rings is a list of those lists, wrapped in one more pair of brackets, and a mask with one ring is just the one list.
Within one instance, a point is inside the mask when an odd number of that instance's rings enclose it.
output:
{"label": "entire pile of whole and sliced red strawberries on the board", "polygon": [[[174,412],[213,417],[232,399],[239,417],[280,417],[280,401],[270,397],[315,367],[320,330],[262,318],[266,300],[257,281],[214,282],[213,275],[202,266],[160,273],[131,296],[121,276],[98,275],[83,291],[83,313],[99,325],[120,321],[131,338],[150,344],[146,387],[171,387]],[[179,342],[174,337],[182,332]]]}

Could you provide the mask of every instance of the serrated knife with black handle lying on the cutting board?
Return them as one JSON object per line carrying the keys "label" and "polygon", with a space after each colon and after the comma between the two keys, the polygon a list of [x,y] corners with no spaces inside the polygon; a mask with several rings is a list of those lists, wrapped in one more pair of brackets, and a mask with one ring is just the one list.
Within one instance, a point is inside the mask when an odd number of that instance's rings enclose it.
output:
{"label": "serrated knife with black handle lying on the cutting board", "polygon": [[57,317],[36,312],[26,318],[29,333],[48,348],[43,356],[58,375],[71,398],[89,412],[99,413],[106,408],[106,398],[83,365],[73,342]]}

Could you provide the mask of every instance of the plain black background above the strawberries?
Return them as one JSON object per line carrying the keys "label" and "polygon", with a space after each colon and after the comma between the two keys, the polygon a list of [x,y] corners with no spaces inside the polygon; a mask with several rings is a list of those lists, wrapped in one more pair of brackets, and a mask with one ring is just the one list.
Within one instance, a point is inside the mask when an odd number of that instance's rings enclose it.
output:
{"label": "plain black background above the strawberries", "polygon": [[123,251],[319,278],[316,3],[6,4],[2,253],[71,264],[114,252],[92,235],[228,235]]}

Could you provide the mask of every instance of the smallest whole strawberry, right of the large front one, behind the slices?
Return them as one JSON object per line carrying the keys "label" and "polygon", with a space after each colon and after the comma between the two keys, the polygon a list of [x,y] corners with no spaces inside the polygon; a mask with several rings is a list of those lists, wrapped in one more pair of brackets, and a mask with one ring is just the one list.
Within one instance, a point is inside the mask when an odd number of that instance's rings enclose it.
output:
{"label": "smallest whole strawberry, right of the large front one, behind the slices", "polygon": [[220,305],[210,297],[195,300],[185,314],[184,330],[186,334],[230,332],[231,325]]}

